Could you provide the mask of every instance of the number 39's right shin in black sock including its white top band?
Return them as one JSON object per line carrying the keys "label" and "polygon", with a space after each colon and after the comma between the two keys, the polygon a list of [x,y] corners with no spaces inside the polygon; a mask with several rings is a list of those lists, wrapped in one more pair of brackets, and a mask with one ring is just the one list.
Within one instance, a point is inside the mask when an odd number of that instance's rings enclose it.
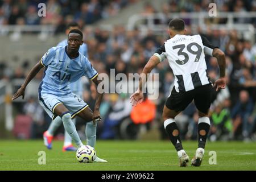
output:
{"label": "number 39's right shin in black sock including its white top band", "polygon": [[207,135],[210,130],[210,119],[208,117],[199,118],[198,122],[198,148],[204,148]]}

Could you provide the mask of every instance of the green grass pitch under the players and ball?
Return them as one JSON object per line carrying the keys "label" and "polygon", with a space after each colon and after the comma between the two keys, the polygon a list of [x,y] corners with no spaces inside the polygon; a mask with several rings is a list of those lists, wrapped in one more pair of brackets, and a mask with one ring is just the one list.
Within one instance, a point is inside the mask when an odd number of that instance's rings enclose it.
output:
{"label": "green grass pitch under the players and ball", "polygon": [[[85,143],[85,142],[84,142]],[[76,152],[62,152],[63,142],[53,140],[47,150],[43,140],[0,140],[0,170],[171,171],[256,170],[256,142],[208,142],[201,167],[180,168],[176,151],[166,141],[98,140],[97,155],[108,163],[79,163]],[[183,142],[190,161],[197,142]],[[46,164],[39,165],[39,151],[46,151]],[[216,151],[217,164],[209,164]]]}

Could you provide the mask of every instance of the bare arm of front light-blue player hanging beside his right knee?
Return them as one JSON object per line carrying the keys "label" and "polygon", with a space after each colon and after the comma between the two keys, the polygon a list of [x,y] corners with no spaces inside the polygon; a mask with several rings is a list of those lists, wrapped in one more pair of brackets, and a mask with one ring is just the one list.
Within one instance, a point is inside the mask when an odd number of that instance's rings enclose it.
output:
{"label": "bare arm of front light-blue player hanging beside his right knee", "polygon": [[[101,80],[98,80],[98,76],[96,76],[95,78],[93,78],[92,80],[94,82],[94,84],[96,86],[98,86],[98,84],[100,84]],[[97,89],[96,89],[97,90]],[[96,102],[95,102],[95,106],[93,109],[93,122],[95,121],[100,121],[101,120],[101,114],[100,114],[100,105],[101,105],[101,101],[102,101],[102,97],[103,97],[103,93],[98,93],[98,90],[96,91],[97,95],[96,95]]]}

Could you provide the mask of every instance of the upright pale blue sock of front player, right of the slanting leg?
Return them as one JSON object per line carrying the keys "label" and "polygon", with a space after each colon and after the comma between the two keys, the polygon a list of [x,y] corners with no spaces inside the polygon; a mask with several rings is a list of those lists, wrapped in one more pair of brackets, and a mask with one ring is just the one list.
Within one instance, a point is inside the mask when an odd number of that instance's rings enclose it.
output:
{"label": "upright pale blue sock of front player, right of the slanting leg", "polygon": [[93,121],[87,122],[86,123],[86,128],[85,128],[85,135],[86,135],[86,144],[89,146],[94,147],[96,143],[96,130],[97,130],[97,122],[95,124]]}

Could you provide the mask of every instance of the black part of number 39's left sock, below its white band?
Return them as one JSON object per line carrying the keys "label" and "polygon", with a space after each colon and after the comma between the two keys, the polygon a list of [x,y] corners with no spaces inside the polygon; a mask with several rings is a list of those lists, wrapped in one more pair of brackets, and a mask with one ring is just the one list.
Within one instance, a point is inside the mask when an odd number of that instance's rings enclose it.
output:
{"label": "black part of number 39's left sock, below its white band", "polygon": [[180,131],[175,122],[172,122],[166,126],[166,133],[168,134],[172,144],[174,144],[176,151],[183,150],[180,140]]}

